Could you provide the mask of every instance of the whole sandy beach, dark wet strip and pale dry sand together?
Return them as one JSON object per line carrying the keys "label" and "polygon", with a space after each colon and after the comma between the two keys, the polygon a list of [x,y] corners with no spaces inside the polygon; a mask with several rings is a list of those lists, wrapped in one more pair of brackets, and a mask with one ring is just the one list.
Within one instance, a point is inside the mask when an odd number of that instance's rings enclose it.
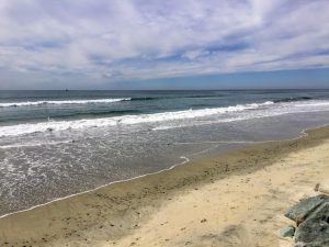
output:
{"label": "whole sandy beach, dark wet strip and pale dry sand together", "polygon": [[0,218],[0,246],[291,246],[284,211],[329,178],[329,127]]}

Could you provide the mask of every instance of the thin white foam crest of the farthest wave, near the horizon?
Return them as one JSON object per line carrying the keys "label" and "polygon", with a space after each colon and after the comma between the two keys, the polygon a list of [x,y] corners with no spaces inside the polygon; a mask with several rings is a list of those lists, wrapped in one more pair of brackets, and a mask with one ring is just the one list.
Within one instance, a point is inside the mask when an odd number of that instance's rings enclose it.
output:
{"label": "thin white foam crest of the farthest wave, near the horizon", "polygon": [[128,101],[128,100],[131,100],[131,98],[125,98],[125,99],[97,99],[97,100],[44,100],[44,101],[25,101],[25,102],[0,103],[0,108],[31,106],[31,105],[42,105],[42,104],[113,103],[113,102]]}

